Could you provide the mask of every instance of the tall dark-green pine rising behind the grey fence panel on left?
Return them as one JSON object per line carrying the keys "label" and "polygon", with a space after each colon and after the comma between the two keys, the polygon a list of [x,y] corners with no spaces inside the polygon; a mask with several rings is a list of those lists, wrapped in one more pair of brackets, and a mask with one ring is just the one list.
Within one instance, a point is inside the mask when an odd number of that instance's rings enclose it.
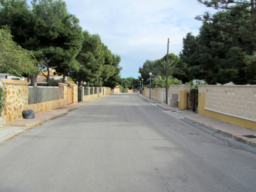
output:
{"label": "tall dark-green pine rising behind the grey fence panel on left", "polygon": [[[34,0],[35,56],[44,61],[47,68],[68,76],[70,70],[78,70],[76,56],[82,48],[82,28],[79,20],[67,12],[62,0]],[[49,84],[49,76],[48,84]]]}

